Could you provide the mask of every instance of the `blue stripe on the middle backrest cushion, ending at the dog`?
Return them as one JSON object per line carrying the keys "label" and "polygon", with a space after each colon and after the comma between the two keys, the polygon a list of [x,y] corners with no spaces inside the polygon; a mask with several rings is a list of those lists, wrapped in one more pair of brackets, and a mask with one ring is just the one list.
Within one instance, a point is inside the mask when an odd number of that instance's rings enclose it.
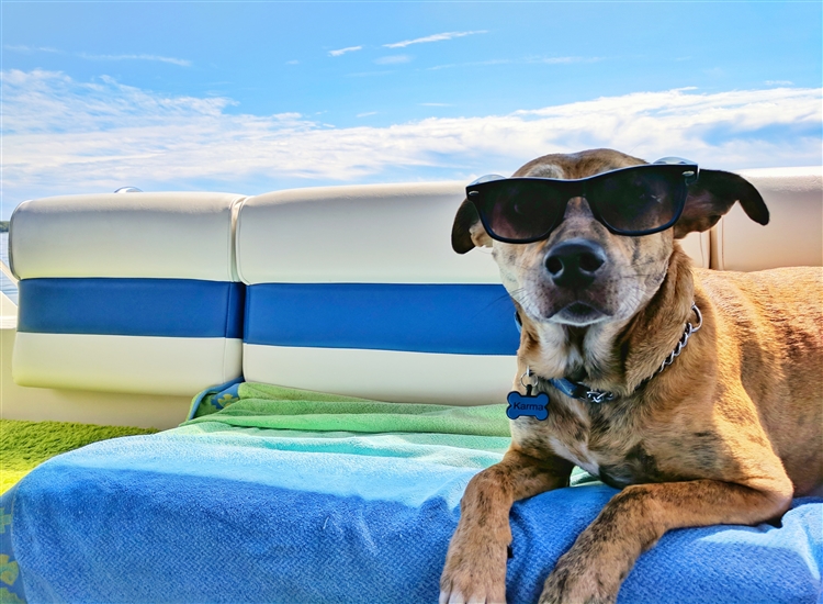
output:
{"label": "blue stripe on the middle backrest cushion, ending at the dog", "polygon": [[503,286],[261,283],[246,298],[247,344],[514,355]]}

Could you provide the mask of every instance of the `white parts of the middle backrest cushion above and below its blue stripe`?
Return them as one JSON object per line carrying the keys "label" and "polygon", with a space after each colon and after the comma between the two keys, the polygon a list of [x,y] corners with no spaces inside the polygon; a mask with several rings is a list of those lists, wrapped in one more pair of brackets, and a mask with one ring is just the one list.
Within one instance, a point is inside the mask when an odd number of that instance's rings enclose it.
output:
{"label": "white parts of the middle backrest cushion above and below its blue stripe", "polygon": [[[238,273],[252,287],[499,283],[489,250],[461,256],[451,247],[464,188],[328,187],[249,198],[237,221]],[[515,371],[514,355],[244,345],[248,381],[387,401],[499,402]]]}

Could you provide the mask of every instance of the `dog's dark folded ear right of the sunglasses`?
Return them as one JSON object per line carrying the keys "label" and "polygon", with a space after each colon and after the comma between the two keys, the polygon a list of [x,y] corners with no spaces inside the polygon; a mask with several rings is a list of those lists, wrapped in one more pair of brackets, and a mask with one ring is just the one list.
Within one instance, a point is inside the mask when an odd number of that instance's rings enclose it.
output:
{"label": "dog's dark folded ear right of the sunglasses", "polygon": [[686,206],[675,223],[675,238],[681,239],[692,231],[708,231],[735,201],[740,201],[749,219],[768,224],[768,208],[751,182],[732,172],[700,170],[698,180],[689,184]]}

